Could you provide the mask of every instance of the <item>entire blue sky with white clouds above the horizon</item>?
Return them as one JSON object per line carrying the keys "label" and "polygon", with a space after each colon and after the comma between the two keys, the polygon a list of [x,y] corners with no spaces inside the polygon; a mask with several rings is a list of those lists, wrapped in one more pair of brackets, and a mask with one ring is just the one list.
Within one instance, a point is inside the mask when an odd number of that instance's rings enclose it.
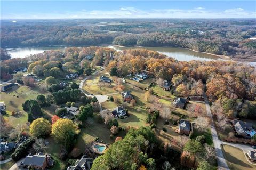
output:
{"label": "entire blue sky with white clouds above the horizon", "polygon": [[0,1],[1,19],[256,18],[256,1]]}

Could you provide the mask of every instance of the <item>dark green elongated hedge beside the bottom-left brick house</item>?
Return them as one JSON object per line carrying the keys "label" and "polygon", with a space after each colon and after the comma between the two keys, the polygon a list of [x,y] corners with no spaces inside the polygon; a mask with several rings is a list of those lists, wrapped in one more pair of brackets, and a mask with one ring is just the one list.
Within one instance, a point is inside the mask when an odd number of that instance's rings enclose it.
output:
{"label": "dark green elongated hedge beside the bottom-left brick house", "polygon": [[32,147],[32,144],[35,142],[34,139],[29,137],[25,142],[23,142],[19,147],[12,153],[11,158],[14,161],[20,160],[22,157],[27,156],[28,150]]}

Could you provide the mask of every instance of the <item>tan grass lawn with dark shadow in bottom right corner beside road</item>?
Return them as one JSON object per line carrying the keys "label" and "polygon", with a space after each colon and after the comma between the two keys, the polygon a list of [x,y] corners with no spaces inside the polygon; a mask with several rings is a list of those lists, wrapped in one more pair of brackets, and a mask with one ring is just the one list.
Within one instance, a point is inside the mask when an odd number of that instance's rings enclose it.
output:
{"label": "tan grass lawn with dark shadow in bottom right corner beside road", "polygon": [[253,170],[256,165],[250,164],[241,149],[222,145],[222,151],[230,170]]}

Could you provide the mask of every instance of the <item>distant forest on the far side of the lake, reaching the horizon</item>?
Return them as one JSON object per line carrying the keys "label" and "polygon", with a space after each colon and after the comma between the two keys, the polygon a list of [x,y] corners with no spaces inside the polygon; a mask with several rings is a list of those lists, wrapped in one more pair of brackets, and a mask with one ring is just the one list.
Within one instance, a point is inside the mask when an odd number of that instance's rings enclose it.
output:
{"label": "distant forest on the far side of the lake, reaching the horizon", "polygon": [[89,46],[99,44],[170,46],[254,61],[256,21],[106,19],[1,21],[1,47]]}

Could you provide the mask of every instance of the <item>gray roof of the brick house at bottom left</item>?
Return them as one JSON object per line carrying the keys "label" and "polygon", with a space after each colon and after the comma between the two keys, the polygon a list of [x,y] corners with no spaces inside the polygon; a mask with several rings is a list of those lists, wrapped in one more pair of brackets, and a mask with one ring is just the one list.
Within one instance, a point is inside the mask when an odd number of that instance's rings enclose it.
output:
{"label": "gray roof of the brick house at bottom left", "polygon": [[43,153],[37,153],[36,155],[26,156],[24,165],[43,166],[46,156]]}

